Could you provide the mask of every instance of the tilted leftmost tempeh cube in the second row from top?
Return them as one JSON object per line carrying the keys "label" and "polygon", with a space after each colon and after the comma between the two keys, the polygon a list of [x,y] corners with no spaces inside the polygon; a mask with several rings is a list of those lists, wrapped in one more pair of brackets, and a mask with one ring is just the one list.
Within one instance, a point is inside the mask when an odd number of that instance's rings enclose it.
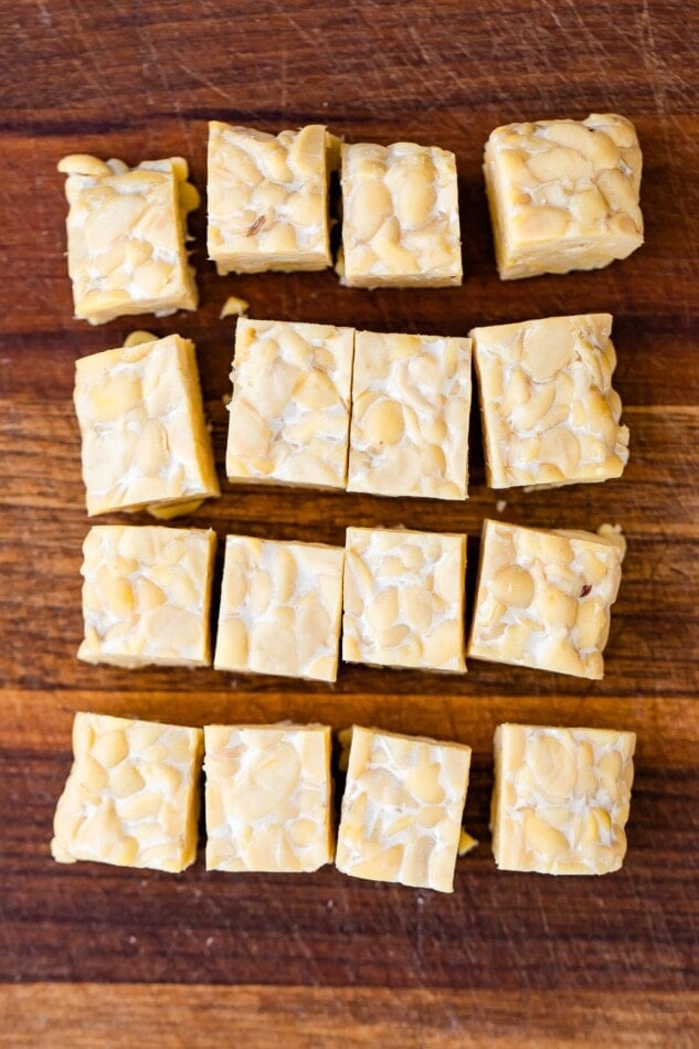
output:
{"label": "tilted leftmost tempeh cube in the second row from top", "polygon": [[220,495],[189,339],[78,359],[73,398],[91,517]]}

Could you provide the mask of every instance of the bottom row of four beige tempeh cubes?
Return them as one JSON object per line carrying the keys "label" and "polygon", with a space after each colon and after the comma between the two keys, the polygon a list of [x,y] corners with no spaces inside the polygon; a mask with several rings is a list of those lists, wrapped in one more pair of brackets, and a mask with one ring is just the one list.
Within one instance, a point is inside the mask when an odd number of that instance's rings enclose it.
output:
{"label": "bottom row of four beige tempeh cubes", "polygon": [[[493,850],[502,870],[603,875],[626,852],[633,732],[496,729]],[[77,713],[54,819],[60,862],[181,871],[205,773],[206,869],[314,871],[453,891],[470,748],[354,727],[337,833],[327,725],[179,728]]]}

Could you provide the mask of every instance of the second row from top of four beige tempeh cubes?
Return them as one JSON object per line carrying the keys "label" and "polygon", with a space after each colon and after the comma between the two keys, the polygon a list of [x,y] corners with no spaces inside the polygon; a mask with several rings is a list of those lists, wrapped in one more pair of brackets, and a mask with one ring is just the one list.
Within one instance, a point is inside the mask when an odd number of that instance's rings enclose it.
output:
{"label": "second row from top of four beige tempeh cubes", "polygon": [[[473,342],[490,485],[618,477],[628,430],[611,328],[589,314],[443,338],[241,318],[226,475],[465,499]],[[173,517],[219,495],[190,341],[80,359],[75,407],[88,513]]]}

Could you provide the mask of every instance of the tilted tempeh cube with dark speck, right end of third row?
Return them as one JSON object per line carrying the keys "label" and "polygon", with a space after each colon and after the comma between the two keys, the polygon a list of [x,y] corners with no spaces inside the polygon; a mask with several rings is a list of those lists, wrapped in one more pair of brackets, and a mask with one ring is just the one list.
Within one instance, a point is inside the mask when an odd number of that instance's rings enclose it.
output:
{"label": "tilted tempeh cube with dark speck, right end of third row", "polygon": [[602,678],[621,579],[613,540],[486,520],[468,656]]}

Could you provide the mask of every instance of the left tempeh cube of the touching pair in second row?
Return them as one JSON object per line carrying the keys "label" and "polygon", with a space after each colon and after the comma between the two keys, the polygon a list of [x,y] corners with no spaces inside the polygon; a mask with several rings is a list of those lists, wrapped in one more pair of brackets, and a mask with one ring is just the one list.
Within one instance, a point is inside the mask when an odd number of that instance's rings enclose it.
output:
{"label": "left tempeh cube of the touching pair in second row", "polygon": [[354,330],[239,320],[229,480],[345,488]]}

